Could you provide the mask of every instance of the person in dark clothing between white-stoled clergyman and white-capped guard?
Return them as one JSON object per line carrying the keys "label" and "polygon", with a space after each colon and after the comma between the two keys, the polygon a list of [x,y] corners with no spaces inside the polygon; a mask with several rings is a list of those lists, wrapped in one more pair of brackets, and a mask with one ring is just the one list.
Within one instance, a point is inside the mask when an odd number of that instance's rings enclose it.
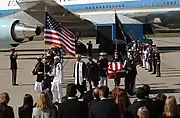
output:
{"label": "person in dark clothing between white-stoled clergyman and white-capped guard", "polygon": [[92,89],[92,83],[94,86],[98,86],[99,83],[99,72],[98,65],[92,59],[92,57],[88,58],[89,62],[87,62],[87,81],[89,82],[89,89]]}

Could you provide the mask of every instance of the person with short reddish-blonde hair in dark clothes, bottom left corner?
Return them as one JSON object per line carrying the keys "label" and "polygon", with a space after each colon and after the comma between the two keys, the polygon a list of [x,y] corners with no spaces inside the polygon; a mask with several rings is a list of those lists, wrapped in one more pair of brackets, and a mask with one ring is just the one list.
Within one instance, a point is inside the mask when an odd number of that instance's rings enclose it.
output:
{"label": "person with short reddish-blonde hair in dark clothes, bottom left corner", "polygon": [[14,118],[13,108],[8,106],[9,100],[8,93],[0,93],[0,118]]}

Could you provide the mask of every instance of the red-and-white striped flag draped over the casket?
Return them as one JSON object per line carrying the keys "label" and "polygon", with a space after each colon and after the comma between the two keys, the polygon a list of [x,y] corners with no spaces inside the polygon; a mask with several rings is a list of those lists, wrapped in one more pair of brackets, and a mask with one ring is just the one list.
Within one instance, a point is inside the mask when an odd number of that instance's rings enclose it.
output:
{"label": "red-and-white striped flag draped over the casket", "polygon": [[126,71],[124,66],[120,62],[109,62],[108,63],[108,78],[114,79],[115,77],[125,77]]}

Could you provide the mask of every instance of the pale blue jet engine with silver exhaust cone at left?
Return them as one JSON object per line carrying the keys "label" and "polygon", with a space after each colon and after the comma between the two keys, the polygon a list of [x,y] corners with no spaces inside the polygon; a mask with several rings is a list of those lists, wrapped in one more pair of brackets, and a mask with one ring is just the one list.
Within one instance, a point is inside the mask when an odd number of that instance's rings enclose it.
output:
{"label": "pale blue jet engine with silver exhaust cone at left", "polygon": [[20,20],[0,20],[0,48],[16,47],[21,43],[32,41],[34,36],[40,34],[39,27],[30,26]]}

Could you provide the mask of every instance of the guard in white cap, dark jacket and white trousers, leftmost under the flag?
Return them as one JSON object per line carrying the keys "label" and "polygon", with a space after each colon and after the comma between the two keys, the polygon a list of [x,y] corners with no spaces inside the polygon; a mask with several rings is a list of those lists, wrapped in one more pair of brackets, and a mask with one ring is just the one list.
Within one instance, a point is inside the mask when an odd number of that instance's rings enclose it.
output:
{"label": "guard in white cap, dark jacket and white trousers, leftmost under the flag", "polygon": [[35,68],[33,69],[32,74],[37,75],[34,90],[41,92],[42,82],[44,80],[44,64],[42,62],[42,58],[37,57],[37,64],[35,65]]}

